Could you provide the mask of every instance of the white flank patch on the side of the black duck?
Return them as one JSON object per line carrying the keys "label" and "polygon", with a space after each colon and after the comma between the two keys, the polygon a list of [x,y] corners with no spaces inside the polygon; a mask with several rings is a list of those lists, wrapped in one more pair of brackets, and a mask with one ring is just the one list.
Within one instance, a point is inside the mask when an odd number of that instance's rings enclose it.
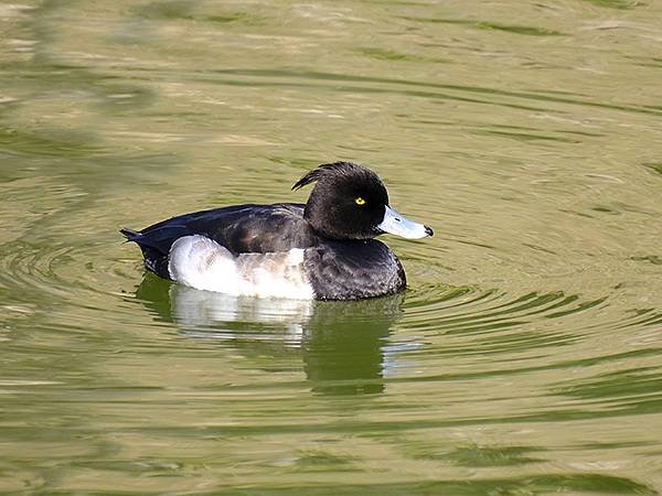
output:
{"label": "white flank patch on the side of the black duck", "polygon": [[213,239],[184,236],[170,248],[168,271],[182,284],[235,296],[313,298],[300,248],[235,257]]}

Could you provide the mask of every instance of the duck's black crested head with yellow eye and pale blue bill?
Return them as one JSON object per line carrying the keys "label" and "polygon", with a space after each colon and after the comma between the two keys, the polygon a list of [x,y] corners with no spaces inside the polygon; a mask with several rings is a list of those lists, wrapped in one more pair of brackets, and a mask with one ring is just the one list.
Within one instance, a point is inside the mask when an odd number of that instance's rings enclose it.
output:
{"label": "duck's black crested head with yellow eye and pale blue bill", "polygon": [[380,176],[352,162],[320,165],[292,186],[317,182],[303,217],[330,239],[371,239],[391,233],[408,239],[433,236],[433,229],[399,215],[388,205],[388,193]]}

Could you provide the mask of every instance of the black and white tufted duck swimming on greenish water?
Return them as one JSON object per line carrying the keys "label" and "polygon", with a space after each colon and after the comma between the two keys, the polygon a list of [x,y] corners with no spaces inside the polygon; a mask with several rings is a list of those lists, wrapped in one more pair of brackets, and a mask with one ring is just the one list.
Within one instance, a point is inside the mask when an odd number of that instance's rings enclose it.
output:
{"label": "black and white tufted duck swimming on greenish water", "polygon": [[120,229],[149,272],[235,296],[363,300],[403,291],[397,256],[375,239],[433,229],[398,214],[380,176],[354,162],[321,164],[291,187],[306,204],[232,205]]}

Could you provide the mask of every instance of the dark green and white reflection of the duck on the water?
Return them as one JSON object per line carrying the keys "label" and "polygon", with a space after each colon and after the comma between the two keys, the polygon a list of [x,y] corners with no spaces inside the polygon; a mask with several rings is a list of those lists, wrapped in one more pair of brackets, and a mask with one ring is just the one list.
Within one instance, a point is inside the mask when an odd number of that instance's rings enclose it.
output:
{"label": "dark green and white reflection of the duck on the water", "polygon": [[195,338],[221,338],[247,356],[297,354],[317,392],[384,391],[384,347],[402,294],[354,302],[256,299],[194,290],[147,274],[136,295]]}

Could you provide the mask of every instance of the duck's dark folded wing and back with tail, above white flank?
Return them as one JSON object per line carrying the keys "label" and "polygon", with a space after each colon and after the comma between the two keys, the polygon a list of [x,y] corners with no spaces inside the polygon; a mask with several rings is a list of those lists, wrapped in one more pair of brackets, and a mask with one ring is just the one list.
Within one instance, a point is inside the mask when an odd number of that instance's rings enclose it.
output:
{"label": "duck's dark folded wing and back with tail, above white flank", "polygon": [[169,278],[168,254],[184,236],[213,239],[233,254],[287,251],[314,246],[317,235],[303,219],[302,204],[234,205],[195,212],[160,222],[142,230],[120,229],[142,250],[146,267]]}

